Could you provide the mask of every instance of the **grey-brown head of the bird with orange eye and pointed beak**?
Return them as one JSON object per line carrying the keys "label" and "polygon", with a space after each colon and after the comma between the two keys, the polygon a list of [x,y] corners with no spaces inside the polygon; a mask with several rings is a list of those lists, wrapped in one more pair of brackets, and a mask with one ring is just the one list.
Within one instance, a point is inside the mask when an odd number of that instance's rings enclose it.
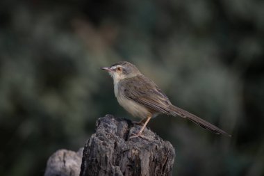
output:
{"label": "grey-brown head of the bird with orange eye and pointed beak", "polygon": [[135,65],[126,61],[115,63],[110,67],[101,67],[101,69],[108,71],[108,73],[116,82],[121,79],[135,77],[138,74],[141,74],[138,68],[135,67]]}

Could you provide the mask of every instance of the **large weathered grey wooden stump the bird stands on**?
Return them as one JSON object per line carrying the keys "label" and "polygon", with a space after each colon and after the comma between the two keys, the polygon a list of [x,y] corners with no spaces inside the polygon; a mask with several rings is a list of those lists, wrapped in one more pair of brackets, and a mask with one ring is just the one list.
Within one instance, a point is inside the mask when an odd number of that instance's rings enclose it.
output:
{"label": "large weathered grey wooden stump the bird stands on", "polygon": [[143,132],[148,139],[129,139],[140,128],[113,115],[99,118],[96,133],[85,143],[80,176],[172,175],[174,147],[149,129]]}

